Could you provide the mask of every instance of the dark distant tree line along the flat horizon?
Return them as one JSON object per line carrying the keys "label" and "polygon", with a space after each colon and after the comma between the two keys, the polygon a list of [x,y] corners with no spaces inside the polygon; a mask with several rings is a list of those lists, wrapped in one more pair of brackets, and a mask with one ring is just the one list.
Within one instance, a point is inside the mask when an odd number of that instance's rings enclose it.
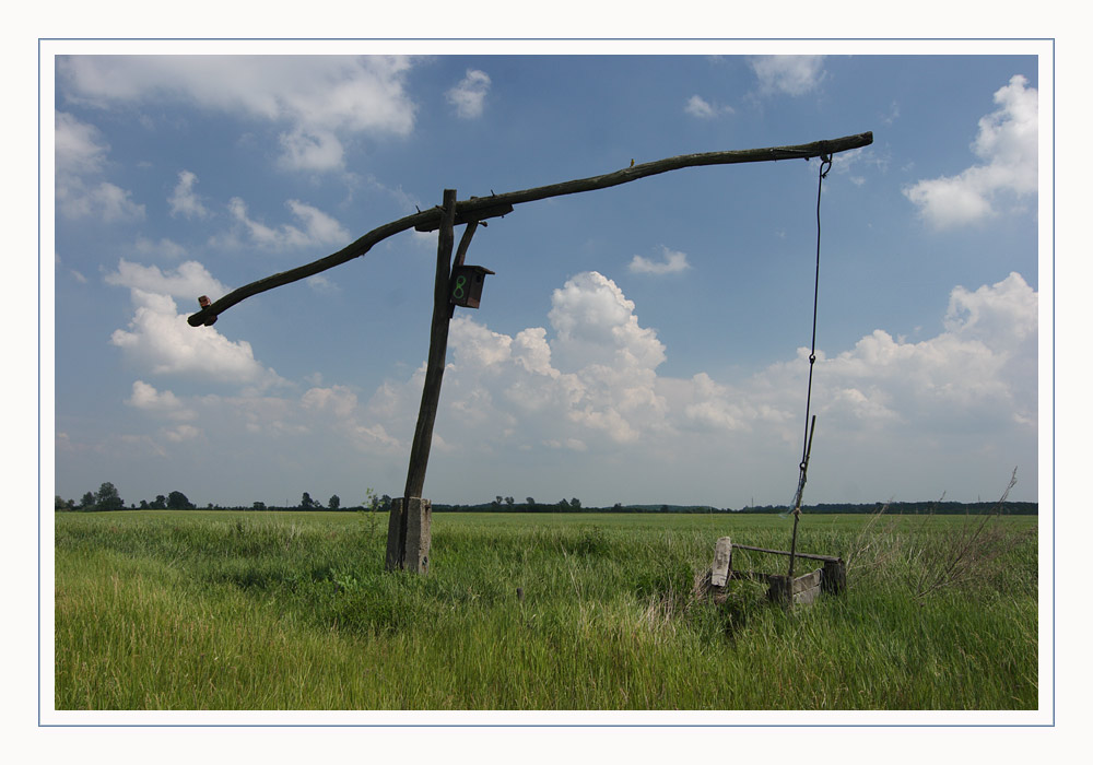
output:
{"label": "dark distant tree line along the flat horizon", "polygon": [[[279,510],[327,510],[327,511],[373,511],[388,513],[391,509],[392,498],[388,494],[377,495],[372,489],[365,491],[365,498],[361,504],[353,506],[342,505],[341,497],[332,495],[327,504],[313,499],[308,492],[301,495],[296,505],[267,505],[265,502],[256,502],[249,506],[223,506],[209,504],[203,509],[209,510],[257,510],[257,511],[279,511]],[[998,507],[997,502],[892,502],[892,503],[820,503],[816,505],[804,505],[801,507],[808,514],[868,514],[885,511],[892,515],[977,515],[994,511]],[[141,499],[139,504],[130,504],[126,507],[125,501],[118,493],[117,487],[107,481],[98,487],[97,492],[87,492],[77,503],[72,499],[55,497],[55,509],[58,511],[104,511],[104,510],[193,510],[198,509],[181,492],[169,492],[167,495],[158,494],[155,499],[149,502]],[[516,502],[514,497],[494,497],[492,502],[478,505],[448,505],[444,503],[433,503],[434,513],[703,513],[703,514],[780,514],[787,513],[788,507],[784,505],[748,506],[739,509],[717,508],[709,505],[623,505],[616,502],[611,507],[585,507],[577,497],[562,498],[559,502],[541,503],[533,497],[527,497],[524,502]],[[1039,504],[1035,502],[1006,502],[1002,504],[1002,513],[1006,515],[1037,515]]]}

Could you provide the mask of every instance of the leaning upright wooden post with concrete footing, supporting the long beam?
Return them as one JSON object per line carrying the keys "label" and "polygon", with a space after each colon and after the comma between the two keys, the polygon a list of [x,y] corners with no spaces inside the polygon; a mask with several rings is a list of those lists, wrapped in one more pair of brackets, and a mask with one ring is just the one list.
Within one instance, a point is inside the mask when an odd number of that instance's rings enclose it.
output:
{"label": "leaning upright wooden post with concrete footing, supporting the long beam", "polygon": [[[393,568],[412,568],[424,573],[415,561],[428,560],[431,534],[428,523],[432,514],[426,511],[426,503],[421,493],[425,486],[425,469],[428,467],[428,450],[433,442],[433,423],[436,420],[437,403],[440,400],[440,380],[444,377],[444,362],[448,351],[448,321],[451,310],[448,304],[448,276],[451,270],[451,250],[455,247],[456,190],[444,190],[440,208],[440,228],[436,244],[436,278],[433,284],[433,323],[428,339],[428,362],[425,366],[425,386],[421,391],[421,408],[418,410],[418,425],[414,428],[413,446],[410,447],[410,468],[407,471],[407,486],[402,505],[397,514],[392,508],[388,527],[388,550],[386,565]],[[416,502],[415,502],[416,501]],[[411,518],[411,516],[414,516]],[[398,538],[393,539],[392,527],[398,522]],[[414,532],[410,533],[410,529]],[[408,566],[407,542],[414,542],[410,551]],[[396,549],[391,550],[395,542]],[[426,546],[421,550],[420,545]]]}

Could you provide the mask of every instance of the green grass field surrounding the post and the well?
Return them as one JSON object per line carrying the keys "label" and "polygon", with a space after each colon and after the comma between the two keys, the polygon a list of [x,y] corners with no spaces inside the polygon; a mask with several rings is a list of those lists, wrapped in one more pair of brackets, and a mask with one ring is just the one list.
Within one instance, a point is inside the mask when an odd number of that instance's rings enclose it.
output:
{"label": "green grass field surrounding the post and the well", "polygon": [[425,577],[383,570],[386,521],[58,514],[56,708],[1037,705],[1035,517],[990,521],[963,570],[977,518],[803,516],[848,589],[790,613],[694,592],[720,536],[785,549],[776,516],[437,514]]}

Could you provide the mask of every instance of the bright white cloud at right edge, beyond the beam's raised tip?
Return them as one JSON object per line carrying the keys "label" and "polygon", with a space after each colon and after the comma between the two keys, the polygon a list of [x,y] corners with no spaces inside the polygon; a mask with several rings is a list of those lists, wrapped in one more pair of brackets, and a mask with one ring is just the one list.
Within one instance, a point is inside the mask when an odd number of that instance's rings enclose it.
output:
{"label": "bright white cloud at right edge, beyond the beam's raised tip", "polygon": [[937,228],[977,223],[996,215],[1003,197],[1036,192],[1038,101],[1036,89],[1020,74],[995,93],[999,108],[979,120],[971,146],[982,162],[904,189],[925,221]]}

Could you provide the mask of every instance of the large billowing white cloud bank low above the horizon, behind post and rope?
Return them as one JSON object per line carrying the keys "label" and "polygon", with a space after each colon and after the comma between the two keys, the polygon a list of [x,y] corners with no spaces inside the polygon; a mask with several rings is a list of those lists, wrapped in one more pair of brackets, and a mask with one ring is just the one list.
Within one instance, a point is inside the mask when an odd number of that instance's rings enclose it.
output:
{"label": "large billowing white cloud bank low above the horizon, behind post and rope", "polygon": [[[611,469],[615,480],[640,481],[638,468],[623,467],[627,460],[685,470],[687,460],[708,466],[716,452],[725,456],[726,481],[755,481],[772,466],[792,473],[807,349],[742,380],[706,372],[675,378],[659,374],[665,345],[610,279],[577,274],[552,302],[549,328],[512,336],[466,316],[453,320],[436,423],[451,448],[446,461],[459,462],[467,450],[580,450],[583,461],[566,462],[567,474]],[[849,350],[819,351],[812,412],[824,454],[845,450],[855,470],[883,473],[893,470],[891,455],[921,463],[945,454],[949,464],[971,464],[1004,451],[990,446],[996,438],[1034,439],[1036,305],[1035,291],[1014,273],[976,290],[955,287],[933,337],[912,342],[878,329]],[[385,385],[343,419],[412,433],[422,375],[423,367],[404,384]],[[967,438],[980,444],[977,454],[966,454]],[[892,491],[900,480],[893,474]]]}

